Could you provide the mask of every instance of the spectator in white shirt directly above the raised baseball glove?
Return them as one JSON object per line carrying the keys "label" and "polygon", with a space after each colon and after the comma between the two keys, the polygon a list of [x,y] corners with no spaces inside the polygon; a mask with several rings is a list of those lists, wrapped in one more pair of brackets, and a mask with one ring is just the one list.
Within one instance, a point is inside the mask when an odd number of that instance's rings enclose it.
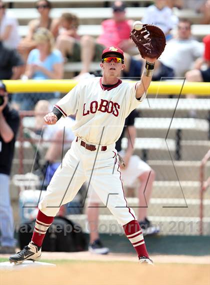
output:
{"label": "spectator in white shirt directly above the raised baseball glove", "polygon": [[155,0],[154,5],[146,9],[141,22],[159,27],[165,34],[166,40],[170,40],[172,37],[170,31],[177,25],[178,19],[172,15],[166,0]]}

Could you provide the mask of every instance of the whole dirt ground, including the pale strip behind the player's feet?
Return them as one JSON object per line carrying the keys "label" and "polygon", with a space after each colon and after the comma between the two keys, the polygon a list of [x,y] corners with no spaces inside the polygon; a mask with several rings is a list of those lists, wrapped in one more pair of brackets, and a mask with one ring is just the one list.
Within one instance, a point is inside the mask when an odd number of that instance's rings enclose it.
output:
{"label": "whole dirt ground, including the pale strip behind the player's feet", "polygon": [[[7,256],[1,255],[1,261]],[[210,256],[154,255],[155,266],[140,265],[135,254],[43,252],[42,261],[56,267],[0,272],[0,285],[209,285]],[[32,264],[35,264],[31,262]]]}

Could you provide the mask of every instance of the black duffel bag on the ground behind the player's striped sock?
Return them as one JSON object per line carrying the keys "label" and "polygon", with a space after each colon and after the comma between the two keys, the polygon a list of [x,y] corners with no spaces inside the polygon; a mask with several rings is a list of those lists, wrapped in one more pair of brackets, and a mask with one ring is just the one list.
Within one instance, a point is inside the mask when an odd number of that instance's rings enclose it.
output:
{"label": "black duffel bag on the ground behind the player's striped sock", "polygon": [[[19,246],[22,249],[31,238],[35,220],[21,224],[18,230]],[[42,251],[83,251],[86,250],[87,242],[79,224],[64,217],[54,217],[48,228],[42,246]]]}

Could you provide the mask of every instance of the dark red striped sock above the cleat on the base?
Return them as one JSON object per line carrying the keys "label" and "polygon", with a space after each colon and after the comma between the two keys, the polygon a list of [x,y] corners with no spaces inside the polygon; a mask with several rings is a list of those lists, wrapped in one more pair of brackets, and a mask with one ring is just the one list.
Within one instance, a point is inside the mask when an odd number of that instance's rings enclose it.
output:
{"label": "dark red striped sock above the cleat on the base", "polygon": [[54,217],[48,217],[44,215],[40,210],[38,210],[38,214],[35,220],[35,227],[33,231],[33,235],[31,241],[38,246],[41,246],[45,233],[48,227],[53,222]]}

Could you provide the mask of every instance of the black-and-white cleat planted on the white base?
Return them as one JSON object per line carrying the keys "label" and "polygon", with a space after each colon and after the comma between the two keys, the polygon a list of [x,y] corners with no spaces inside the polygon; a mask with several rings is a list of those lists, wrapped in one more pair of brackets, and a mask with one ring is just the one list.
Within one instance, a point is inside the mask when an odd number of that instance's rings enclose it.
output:
{"label": "black-and-white cleat planted on the white base", "polygon": [[24,246],[22,250],[11,255],[9,257],[9,262],[12,263],[22,263],[24,260],[37,261],[41,258],[41,247],[38,248],[32,242],[29,242],[28,245]]}

